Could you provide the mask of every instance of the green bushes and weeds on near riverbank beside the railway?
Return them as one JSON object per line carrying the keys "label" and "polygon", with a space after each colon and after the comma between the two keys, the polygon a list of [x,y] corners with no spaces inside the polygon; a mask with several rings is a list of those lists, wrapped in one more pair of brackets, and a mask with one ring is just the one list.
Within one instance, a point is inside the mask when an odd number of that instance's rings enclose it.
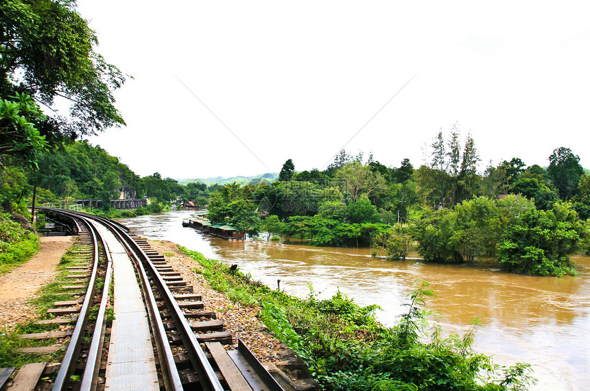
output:
{"label": "green bushes and weeds on near riverbank beside the railway", "polygon": [[377,322],[377,306],[359,307],[338,292],[321,300],[313,289],[294,298],[252,281],[239,270],[181,248],[202,265],[213,289],[242,305],[260,306],[268,329],[309,366],[325,390],[526,390],[534,383],[528,364],[503,367],[471,349],[473,331],[443,337],[430,328],[425,281],[408,294],[407,311],[396,326]]}

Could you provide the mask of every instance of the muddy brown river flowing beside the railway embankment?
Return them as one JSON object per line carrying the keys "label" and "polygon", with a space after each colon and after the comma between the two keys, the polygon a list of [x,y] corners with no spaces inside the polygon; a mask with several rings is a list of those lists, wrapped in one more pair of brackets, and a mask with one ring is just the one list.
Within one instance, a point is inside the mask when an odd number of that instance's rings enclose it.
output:
{"label": "muddy brown river flowing beside the railway embankment", "polygon": [[305,297],[309,285],[321,297],[338,289],[359,305],[377,304],[381,322],[394,324],[403,313],[405,295],[416,279],[436,292],[427,309],[445,333],[462,335],[473,317],[475,351],[493,355],[497,364],[532,364],[539,383],[532,390],[590,389],[590,257],[573,257],[578,275],[532,277],[495,268],[435,265],[419,259],[384,261],[368,248],[315,248],[226,241],[183,228],[191,211],[176,211],[119,220],[143,231],[148,239],[165,239],[211,259],[237,264],[270,287]]}

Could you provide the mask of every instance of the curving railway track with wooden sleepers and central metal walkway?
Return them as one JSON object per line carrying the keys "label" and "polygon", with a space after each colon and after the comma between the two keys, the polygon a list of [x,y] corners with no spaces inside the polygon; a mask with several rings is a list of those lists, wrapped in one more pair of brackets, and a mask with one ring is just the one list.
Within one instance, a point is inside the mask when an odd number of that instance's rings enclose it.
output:
{"label": "curving railway track with wooden sleepers and central metal walkway", "polygon": [[73,282],[60,292],[72,300],[56,301],[39,322],[73,327],[21,335],[58,338],[49,348],[66,350],[61,364],[21,368],[12,387],[28,381],[31,390],[283,390],[240,340],[226,351],[231,333],[147,241],[94,215],[44,213],[79,240],[68,268]]}

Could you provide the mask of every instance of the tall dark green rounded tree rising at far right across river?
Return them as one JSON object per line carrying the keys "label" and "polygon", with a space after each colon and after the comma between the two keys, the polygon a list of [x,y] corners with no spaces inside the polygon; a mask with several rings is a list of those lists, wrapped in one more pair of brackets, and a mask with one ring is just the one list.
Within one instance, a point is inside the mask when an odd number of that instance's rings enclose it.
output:
{"label": "tall dark green rounded tree rising at far right across river", "polygon": [[549,174],[559,196],[563,200],[571,200],[578,191],[580,177],[584,169],[578,163],[580,156],[574,155],[569,148],[559,147],[549,156]]}

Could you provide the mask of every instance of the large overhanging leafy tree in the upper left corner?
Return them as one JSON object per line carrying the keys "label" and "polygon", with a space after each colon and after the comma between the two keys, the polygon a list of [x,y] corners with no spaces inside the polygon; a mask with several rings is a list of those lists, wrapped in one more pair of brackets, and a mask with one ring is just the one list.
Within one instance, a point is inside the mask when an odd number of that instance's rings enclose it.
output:
{"label": "large overhanging leafy tree in the upper left corner", "polygon": [[34,123],[41,135],[93,134],[124,124],[112,91],[125,78],[94,51],[95,32],[75,1],[11,0],[0,3],[0,98],[25,93],[49,108],[70,102],[69,116]]}

